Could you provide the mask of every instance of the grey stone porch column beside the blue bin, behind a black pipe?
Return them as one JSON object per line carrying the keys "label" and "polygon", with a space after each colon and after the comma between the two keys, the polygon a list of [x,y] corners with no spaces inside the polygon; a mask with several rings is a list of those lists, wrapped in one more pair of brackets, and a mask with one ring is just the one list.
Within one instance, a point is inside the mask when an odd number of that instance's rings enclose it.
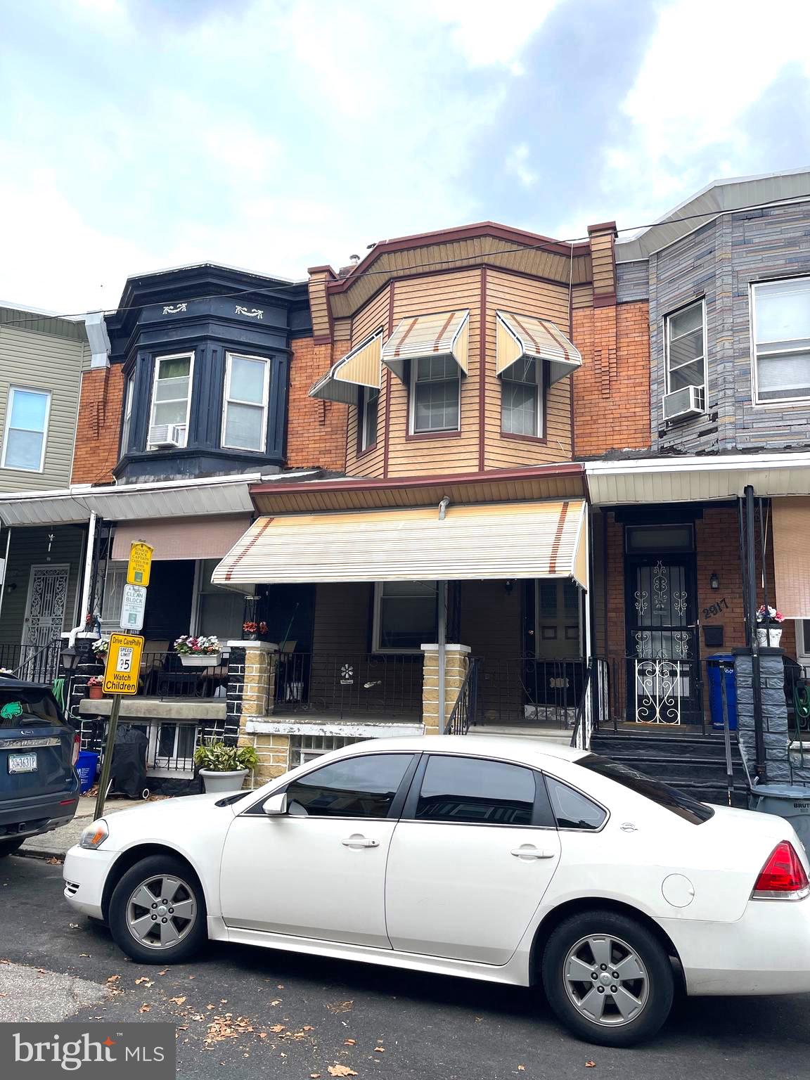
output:
{"label": "grey stone porch column beside the blue bin, behind a black pipe", "polygon": [[[768,780],[791,780],[788,760],[787,703],[782,649],[759,650],[759,683],[762,694],[765,764]],[[756,733],[754,730],[754,680],[751,649],[734,649],[737,717],[740,750],[748,772],[754,775]]]}

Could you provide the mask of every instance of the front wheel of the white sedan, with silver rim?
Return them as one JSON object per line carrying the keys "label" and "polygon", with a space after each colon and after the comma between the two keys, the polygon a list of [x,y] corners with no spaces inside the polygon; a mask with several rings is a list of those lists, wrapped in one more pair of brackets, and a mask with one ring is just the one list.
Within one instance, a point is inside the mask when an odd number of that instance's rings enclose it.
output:
{"label": "front wheel of the white sedan, with silver rim", "polygon": [[178,855],[148,855],[116,886],[108,924],[113,941],[139,963],[183,963],[207,939],[205,896]]}

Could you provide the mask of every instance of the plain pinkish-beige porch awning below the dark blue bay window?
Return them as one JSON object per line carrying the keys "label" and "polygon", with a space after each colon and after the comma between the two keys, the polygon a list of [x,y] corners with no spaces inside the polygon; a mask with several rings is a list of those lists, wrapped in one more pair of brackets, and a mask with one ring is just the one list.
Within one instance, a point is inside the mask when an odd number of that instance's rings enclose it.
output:
{"label": "plain pinkish-beige porch awning below the dark blue bay window", "polygon": [[138,540],[151,544],[152,558],[221,558],[251,524],[251,515],[230,517],[160,518],[119,525],[112,538],[112,558],[130,557]]}

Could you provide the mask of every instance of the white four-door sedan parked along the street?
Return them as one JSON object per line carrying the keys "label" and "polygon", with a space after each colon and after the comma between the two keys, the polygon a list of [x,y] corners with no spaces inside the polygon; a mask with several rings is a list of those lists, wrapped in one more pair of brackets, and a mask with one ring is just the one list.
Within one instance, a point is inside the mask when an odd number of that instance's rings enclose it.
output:
{"label": "white four-door sedan parked along the street", "polygon": [[528,986],[609,1045],[676,989],[810,991],[808,861],[781,818],[595,754],[497,738],[356,743],[252,792],[95,821],[65,895],[134,960],[206,939]]}

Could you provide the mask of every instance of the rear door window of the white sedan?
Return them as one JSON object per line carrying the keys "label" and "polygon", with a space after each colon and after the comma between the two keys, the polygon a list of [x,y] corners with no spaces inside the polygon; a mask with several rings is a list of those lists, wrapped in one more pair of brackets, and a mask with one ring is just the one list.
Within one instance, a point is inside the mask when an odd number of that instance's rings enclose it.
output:
{"label": "rear door window of the white sedan", "polygon": [[476,757],[431,756],[416,818],[476,825],[530,825],[535,773],[519,765]]}

